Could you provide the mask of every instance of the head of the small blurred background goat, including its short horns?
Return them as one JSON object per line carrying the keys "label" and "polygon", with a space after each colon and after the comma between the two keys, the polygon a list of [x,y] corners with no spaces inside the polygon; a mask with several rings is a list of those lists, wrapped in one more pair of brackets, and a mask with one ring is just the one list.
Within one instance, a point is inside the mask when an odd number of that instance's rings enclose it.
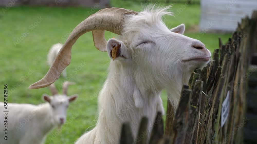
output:
{"label": "head of the small blurred background goat, including its short horns", "polygon": [[72,82],[64,82],[63,83],[63,93],[58,94],[54,84],[51,84],[49,86],[52,95],[49,96],[47,94],[43,94],[43,99],[47,101],[51,105],[52,114],[53,114],[53,120],[54,123],[57,125],[62,125],[66,121],[66,111],[69,107],[69,103],[73,102],[75,99],[77,99],[78,95],[71,95],[67,96],[67,88],[68,85],[74,84]]}

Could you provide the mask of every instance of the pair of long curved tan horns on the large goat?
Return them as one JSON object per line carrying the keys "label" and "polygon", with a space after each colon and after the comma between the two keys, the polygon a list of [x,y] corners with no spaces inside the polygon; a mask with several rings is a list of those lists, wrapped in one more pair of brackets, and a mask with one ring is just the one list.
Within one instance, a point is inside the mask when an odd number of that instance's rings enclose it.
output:
{"label": "pair of long curved tan horns on the large goat", "polygon": [[61,72],[70,64],[71,48],[81,35],[93,31],[96,48],[100,51],[106,51],[104,30],[121,35],[127,16],[136,14],[132,10],[123,8],[105,8],[89,16],[71,32],[47,74],[38,82],[30,85],[29,89],[47,87],[59,78]]}

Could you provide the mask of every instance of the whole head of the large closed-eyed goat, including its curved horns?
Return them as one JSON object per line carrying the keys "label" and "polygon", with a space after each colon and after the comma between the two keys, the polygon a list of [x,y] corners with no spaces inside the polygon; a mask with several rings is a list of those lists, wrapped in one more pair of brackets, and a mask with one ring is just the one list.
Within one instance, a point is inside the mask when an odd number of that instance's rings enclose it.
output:
{"label": "whole head of the large closed-eyed goat, including its curved horns", "polygon": [[[92,31],[95,47],[107,51],[114,63],[131,65],[135,75],[141,69],[141,73],[147,74],[145,77],[161,76],[158,82],[161,88],[170,87],[178,79],[188,81],[195,68],[209,62],[211,54],[199,40],[183,36],[183,24],[171,30],[167,28],[162,22],[162,16],[170,14],[167,9],[148,9],[141,13],[123,8],[99,10],[71,32],[46,76],[29,88],[46,87],[56,81],[70,63],[72,45],[88,31]],[[107,43],[105,30],[120,35],[121,41],[110,39]]]}

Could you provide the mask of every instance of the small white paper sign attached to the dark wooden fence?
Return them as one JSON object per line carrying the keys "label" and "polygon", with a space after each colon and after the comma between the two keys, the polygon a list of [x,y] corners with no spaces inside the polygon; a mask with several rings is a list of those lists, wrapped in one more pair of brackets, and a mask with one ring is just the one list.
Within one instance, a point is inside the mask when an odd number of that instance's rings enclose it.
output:
{"label": "small white paper sign attached to the dark wooden fence", "polygon": [[224,102],[222,103],[222,109],[221,109],[221,127],[223,127],[223,125],[225,124],[225,122],[227,121],[227,117],[229,114],[229,103],[230,102],[230,98],[229,98],[229,91],[227,92],[227,97],[225,98]]}

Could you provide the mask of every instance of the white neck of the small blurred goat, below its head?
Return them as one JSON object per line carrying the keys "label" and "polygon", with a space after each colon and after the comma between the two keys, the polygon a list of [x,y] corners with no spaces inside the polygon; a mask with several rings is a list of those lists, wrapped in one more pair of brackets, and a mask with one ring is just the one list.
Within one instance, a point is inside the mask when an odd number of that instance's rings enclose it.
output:
{"label": "white neck of the small blurred goat, below its head", "polygon": [[55,126],[52,109],[49,103],[38,105],[38,110],[35,112],[35,118],[40,124],[42,136],[46,135]]}

